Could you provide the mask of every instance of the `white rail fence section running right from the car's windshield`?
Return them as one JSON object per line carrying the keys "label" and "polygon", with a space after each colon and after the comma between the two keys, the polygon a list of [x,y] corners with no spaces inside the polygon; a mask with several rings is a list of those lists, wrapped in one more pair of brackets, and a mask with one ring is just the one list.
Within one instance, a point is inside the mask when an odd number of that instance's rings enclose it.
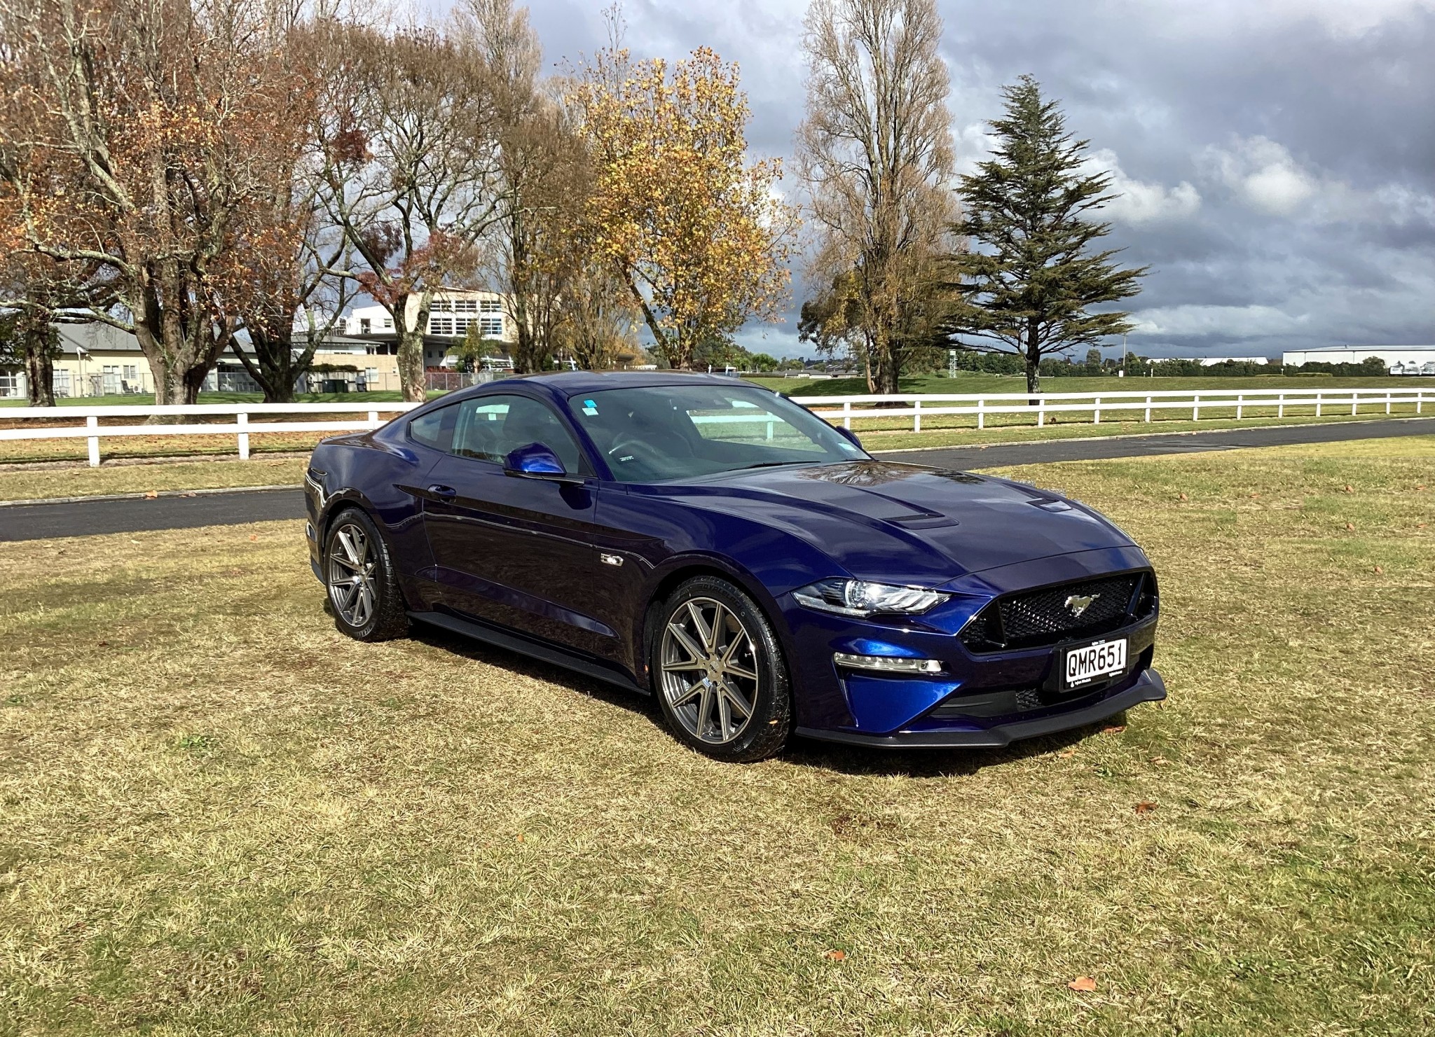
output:
{"label": "white rail fence section running right from the car's windshield", "polygon": [[[1314,407],[1314,416],[1336,413],[1349,407],[1359,415],[1360,407],[1383,407],[1386,415],[1393,407],[1413,407],[1424,413],[1426,403],[1435,404],[1435,389],[1203,389],[1162,390],[1151,393],[997,393],[997,394],[950,394],[950,396],[794,396],[796,403],[811,407],[829,422],[841,422],[851,429],[854,417],[910,417],[911,430],[921,432],[921,419],[937,415],[976,415],[977,427],[986,427],[990,415],[1036,416],[1036,425],[1046,425],[1049,415],[1091,415],[1099,425],[1101,416],[1112,412],[1142,412],[1142,420],[1149,422],[1152,412],[1190,410],[1191,420],[1201,420],[1213,409],[1236,409],[1241,419],[1251,410],[1274,412],[1274,417],[1286,417],[1287,410]],[[875,407],[871,404],[885,403]],[[867,404],[867,406],[864,406]],[[895,404],[895,406],[891,406]],[[905,406],[903,406],[905,404]],[[1271,416],[1271,415],[1267,415]]]}

